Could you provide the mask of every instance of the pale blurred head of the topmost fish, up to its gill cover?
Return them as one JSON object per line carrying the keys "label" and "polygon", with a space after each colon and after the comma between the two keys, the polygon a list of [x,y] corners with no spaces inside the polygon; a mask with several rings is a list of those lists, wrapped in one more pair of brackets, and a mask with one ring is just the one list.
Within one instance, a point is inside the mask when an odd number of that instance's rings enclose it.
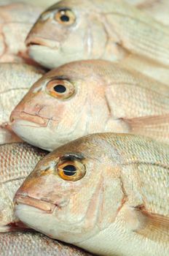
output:
{"label": "pale blurred head of the topmost fish, up to its gill cover", "polygon": [[31,58],[50,69],[70,61],[103,59],[106,50],[107,59],[117,55],[116,44],[114,52],[109,48],[105,18],[89,0],[60,1],[43,12],[26,45]]}

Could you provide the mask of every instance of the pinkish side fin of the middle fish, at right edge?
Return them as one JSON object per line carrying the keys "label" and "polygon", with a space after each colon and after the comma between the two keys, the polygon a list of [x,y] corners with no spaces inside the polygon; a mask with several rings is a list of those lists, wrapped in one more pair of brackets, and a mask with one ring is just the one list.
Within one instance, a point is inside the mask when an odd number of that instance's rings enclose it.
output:
{"label": "pinkish side fin of the middle fish, at right edge", "polygon": [[169,115],[122,118],[122,120],[127,124],[130,133],[169,143]]}

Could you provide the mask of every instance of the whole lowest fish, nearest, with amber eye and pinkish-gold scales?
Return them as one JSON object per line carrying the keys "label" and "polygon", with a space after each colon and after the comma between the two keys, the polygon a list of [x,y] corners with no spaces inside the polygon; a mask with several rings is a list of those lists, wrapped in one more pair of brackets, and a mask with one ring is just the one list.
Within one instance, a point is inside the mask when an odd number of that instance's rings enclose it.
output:
{"label": "whole lowest fish, nearest, with amber eye and pinkish-gold scales", "polygon": [[79,138],[38,162],[17,190],[15,214],[96,255],[168,256],[168,154],[138,135]]}

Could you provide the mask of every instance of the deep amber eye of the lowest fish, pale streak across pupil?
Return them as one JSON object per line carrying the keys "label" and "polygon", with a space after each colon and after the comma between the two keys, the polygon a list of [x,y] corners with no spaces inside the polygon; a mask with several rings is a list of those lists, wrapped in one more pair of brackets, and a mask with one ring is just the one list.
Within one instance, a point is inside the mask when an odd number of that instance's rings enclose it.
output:
{"label": "deep amber eye of the lowest fish, pale streak across pupil", "polygon": [[58,176],[66,181],[78,181],[83,178],[86,170],[82,162],[78,160],[63,160],[56,167]]}

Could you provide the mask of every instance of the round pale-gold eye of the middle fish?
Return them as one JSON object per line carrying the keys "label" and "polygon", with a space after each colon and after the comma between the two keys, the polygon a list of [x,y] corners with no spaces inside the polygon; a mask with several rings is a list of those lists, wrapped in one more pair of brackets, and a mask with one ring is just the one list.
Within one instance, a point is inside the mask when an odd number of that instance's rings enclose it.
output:
{"label": "round pale-gold eye of the middle fish", "polygon": [[47,93],[58,99],[68,99],[75,93],[75,88],[68,80],[50,80]]}

